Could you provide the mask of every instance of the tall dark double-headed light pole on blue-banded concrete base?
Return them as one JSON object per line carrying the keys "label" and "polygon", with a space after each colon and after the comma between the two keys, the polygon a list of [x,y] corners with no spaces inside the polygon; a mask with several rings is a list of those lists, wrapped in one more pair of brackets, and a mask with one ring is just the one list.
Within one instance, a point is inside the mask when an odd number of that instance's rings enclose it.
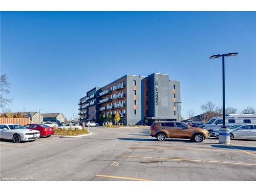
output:
{"label": "tall dark double-headed light pole on blue-banded concrete base", "polygon": [[238,53],[228,53],[222,55],[212,55],[210,59],[215,59],[218,57],[222,57],[222,127],[219,132],[219,143],[230,144],[230,132],[229,128],[225,126],[225,56],[236,56]]}

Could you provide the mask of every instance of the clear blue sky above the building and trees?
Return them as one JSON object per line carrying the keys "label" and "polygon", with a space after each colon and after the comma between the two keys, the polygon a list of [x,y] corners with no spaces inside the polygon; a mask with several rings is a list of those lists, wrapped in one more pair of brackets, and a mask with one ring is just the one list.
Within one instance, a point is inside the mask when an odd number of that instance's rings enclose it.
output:
{"label": "clear blue sky above the building and trees", "polygon": [[181,114],[208,100],[256,107],[256,12],[1,12],[12,111],[77,115],[79,98],[125,74],[181,81]]}

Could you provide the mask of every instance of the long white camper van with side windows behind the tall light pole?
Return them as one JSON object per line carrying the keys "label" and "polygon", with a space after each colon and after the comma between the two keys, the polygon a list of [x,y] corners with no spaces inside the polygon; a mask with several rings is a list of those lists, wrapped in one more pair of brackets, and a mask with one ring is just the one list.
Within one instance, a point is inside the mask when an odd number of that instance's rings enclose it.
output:
{"label": "long white camper van with side windows behind the tall light pole", "polygon": [[[211,132],[212,130],[219,130],[222,126],[222,117],[213,117],[207,123],[203,124],[204,129]],[[225,126],[231,127],[237,124],[256,124],[256,115],[252,114],[228,114],[225,115]]]}

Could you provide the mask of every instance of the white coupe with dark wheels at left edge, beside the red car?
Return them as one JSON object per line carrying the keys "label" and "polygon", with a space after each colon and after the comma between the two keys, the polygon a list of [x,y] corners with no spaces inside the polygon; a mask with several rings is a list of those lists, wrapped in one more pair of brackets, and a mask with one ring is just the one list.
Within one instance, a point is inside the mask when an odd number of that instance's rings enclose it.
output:
{"label": "white coupe with dark wheels at left edge, beside the red car", "polygon": [[0,124],[0,138],[13,140],[14,143],[20,141],[33,141],[40,137],[40,132],[26,129],[20,124]]}

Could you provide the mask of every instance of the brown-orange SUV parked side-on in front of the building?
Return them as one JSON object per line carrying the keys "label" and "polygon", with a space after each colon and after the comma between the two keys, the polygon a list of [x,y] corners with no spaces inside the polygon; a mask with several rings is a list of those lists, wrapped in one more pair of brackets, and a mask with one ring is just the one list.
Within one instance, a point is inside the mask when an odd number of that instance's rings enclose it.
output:
{"label": "brown-orange SUV parked side-on in front of the building", "polygon": [[187,138],[202,142],[208,139],[210,134],[202,128],[188,126],[178,121],[167,121],[153,123],[150,127],[150,136],[156,137],[158,141],[164,141],[166,138]]}

